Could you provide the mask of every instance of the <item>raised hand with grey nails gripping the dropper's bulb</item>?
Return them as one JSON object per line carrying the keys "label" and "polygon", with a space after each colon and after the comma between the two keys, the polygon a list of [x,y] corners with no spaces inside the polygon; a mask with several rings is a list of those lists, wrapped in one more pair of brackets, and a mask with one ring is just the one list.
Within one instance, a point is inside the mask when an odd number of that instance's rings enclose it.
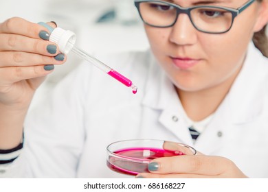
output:
{"label": "raised hand with grey nails gripping the dropper's bulb", "polygon": [[48,29],[21,18],[0,23],[0,105],[27,110],[54,64],[65,62],[48,38]]}

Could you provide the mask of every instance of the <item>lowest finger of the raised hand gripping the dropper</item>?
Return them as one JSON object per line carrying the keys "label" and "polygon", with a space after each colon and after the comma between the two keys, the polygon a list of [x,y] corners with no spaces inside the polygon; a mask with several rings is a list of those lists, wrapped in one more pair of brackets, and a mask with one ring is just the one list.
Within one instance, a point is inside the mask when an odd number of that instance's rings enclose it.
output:
{"label": "lowest finger of the raised hand gripping the dropper", "polygon": [[5,67],[0,69],[0,82],[1,84],[13,84],[21,80],[43,77],[49,73],[52,73],[53,69],[53,65],[38,65],[34,67]]}

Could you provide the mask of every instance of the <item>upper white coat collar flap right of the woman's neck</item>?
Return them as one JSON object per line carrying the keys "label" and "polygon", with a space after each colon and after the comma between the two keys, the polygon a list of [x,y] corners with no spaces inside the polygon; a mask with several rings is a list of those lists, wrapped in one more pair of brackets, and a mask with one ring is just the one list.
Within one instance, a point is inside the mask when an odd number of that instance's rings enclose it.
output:
{"label": "upper white coat collar flap right of the woman's neck", "polygon": [[266,89],[263,82],[264,78],[267,79],[268,71],[268,62],[265,60],[254,44],[250,43],[243,68],[225,98],[230,105],[233,123],[253,121],[262,112]]}

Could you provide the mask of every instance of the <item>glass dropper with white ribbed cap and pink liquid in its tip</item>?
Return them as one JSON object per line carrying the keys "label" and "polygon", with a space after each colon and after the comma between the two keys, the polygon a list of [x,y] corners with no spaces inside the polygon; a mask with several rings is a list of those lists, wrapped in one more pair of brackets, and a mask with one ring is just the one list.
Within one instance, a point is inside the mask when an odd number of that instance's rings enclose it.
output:
{"label": "glass dropper with white ribbed cap and pink liquid in its tip", "polygon": [[118,80],[125,86],[131,87],[132,92],[134,94],[137,93],[137,86],[135,86],[131,82],[131,80],[124,77],[124,75],[118,73],[118,71],[115,71],[111,67],[107,66],[107,64],[104,64],[100,60],[89,55],[89,53],[83,51],[82,49],[78,49],[77,47],[75,47],[74,44],[76,43],[76,34],[74,34],[74,32],[62,29],[60,27],[56,27],[53,30],[52,34],[50,34],[49,40],[58,45],[60,52],[67,54],[69,53],[69,51],[73,51],[74,53],[76,53],[76,55],[87,60],[89,63],[93,64],[94,66],[98,67],[98,69],[104,71],[104,73],[107,73],[111,77],[115,78],[115,80]]}

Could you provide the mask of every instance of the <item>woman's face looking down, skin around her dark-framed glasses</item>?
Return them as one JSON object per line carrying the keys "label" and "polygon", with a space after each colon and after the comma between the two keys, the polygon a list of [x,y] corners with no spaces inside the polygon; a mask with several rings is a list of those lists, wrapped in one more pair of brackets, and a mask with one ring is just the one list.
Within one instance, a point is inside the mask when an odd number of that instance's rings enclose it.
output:
{"label": "woman's face looking down, skin around her dark-framed glasses", "polygon": [[[239,8],[247,0],[209,0],[205,5]],[[203,0],[174,0],[182,7],[204,5]],[[206,1],[208,2],[208,1]],[[144,25],[150,47],[161,67],[177,88],[201,91],[236,77],[247,45],[256,31],[260,5],[252,3],[239,14],[229,32],[205,34],[197,31],[186,14],[179,14],[172,27]]]}

